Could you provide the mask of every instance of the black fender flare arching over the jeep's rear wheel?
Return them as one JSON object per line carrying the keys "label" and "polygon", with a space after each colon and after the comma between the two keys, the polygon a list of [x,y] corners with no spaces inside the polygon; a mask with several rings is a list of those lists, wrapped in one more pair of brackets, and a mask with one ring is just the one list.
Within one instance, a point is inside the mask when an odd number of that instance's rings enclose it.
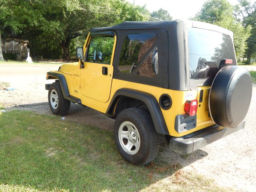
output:
{"label": "black fender flare arching over the jeep's rear wheel", "polygon": [[160,134],[169,135],[169,131],[166,126],[166,122],[164,120],[164,116],[162,114],[162,110],[160,108],[158,101],[152,94],[149,94],[147,92],[142,92],[129,88],[122,88],[117,90],[114,96],[112,97],[112,100],[110,101],[108,109],[106,110],[106,115],[110,112],[111,108],[116,104],[115,101],[118,96],[127,96],[144,102],[148,107],[156,132]]}

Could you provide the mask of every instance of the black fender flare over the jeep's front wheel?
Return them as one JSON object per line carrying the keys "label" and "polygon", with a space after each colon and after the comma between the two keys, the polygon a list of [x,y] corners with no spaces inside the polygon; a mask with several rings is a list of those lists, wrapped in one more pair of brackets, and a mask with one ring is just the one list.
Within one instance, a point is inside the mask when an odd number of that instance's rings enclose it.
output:
{"label": "black fender flare over the jeep's front wheel", "polygon": [[76,97],[70,95],[69,90],[68,90],[68,84],[67,84],[66,78],[63,74],[59,74],[59,73],[55,73],[55,72],[47,72],[46,80],[52,79],[51,77],[55,77],[56,79],[59,80],[64,99],[70,100],[73,103],[82,104],[82,101],[79,98],[76,98]]}

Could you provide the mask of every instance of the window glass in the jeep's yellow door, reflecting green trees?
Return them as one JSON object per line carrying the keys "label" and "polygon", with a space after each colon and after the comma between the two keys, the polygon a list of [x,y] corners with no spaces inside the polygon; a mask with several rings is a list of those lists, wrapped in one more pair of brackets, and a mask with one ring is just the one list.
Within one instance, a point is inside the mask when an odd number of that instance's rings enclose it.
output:
{"label": "window glass in the jeep's yellow door, reflecting green trees", "polygon": [[110,64],[114,46],[114,37],[92,37],[87,62]]}

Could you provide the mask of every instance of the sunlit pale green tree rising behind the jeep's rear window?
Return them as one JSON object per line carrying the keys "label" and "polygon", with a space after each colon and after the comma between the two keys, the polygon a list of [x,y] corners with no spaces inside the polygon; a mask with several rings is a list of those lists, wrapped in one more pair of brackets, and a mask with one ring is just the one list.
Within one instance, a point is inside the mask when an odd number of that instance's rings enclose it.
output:
{"label": "sunlit pale green tree rising behind the jeep's rear window", "polygon": [[193,19],[231,30],[234,33],[236,57],[240,58],[244,55],[247,48],[246,40],[250,36],[250,25],[244,27],[236,20],[234,7],[227,0],[206,1]]}

